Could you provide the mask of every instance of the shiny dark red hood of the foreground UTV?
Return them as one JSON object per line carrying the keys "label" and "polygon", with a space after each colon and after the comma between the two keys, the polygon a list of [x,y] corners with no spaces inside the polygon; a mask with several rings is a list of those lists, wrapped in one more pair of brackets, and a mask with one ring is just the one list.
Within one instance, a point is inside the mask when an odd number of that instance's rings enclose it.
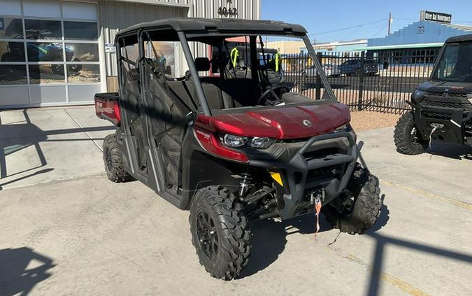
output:
{"label": "shiny dark red hood of the foreground UTV", "polygon": [[268,107],[213,116],[199,115],[195,125],[210,132],[238,136],[299,139],[333,132],[349,121],[348,106],[325,104]]}

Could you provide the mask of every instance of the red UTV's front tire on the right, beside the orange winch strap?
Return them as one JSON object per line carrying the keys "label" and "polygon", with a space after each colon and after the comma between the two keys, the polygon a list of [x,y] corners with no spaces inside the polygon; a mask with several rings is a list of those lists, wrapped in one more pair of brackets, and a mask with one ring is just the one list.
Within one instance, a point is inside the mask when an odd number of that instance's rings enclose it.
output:
{"label": "red UTV's front tire on the right, beside the orange winch strap", "polygon": [[[359,164],[352,173],[348,190],[354,197],[354,205],[347,213],[340,213],[331,203],[322,207],[322,212],[334,228],[349,234],[361,234],[376,224],[382,202],[378,178]],[[343,194],[344,195],[344,194]],[[341,197],[343,197],[341,195]],[[341,198],[338,197],[338,198]]]}

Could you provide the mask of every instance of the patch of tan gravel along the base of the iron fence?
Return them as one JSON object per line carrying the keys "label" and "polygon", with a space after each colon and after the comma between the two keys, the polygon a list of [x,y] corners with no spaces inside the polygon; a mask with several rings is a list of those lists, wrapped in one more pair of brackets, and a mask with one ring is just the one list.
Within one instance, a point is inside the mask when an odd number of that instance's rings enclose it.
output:
{"label": "patch of tan gravel along the base of the iron fence", "polygon": [[373,111],[351,112],[351,125],[356,132],[369,129],[380,129],[382,127],[394,127],[399,120],[400,114],[388,114]]}

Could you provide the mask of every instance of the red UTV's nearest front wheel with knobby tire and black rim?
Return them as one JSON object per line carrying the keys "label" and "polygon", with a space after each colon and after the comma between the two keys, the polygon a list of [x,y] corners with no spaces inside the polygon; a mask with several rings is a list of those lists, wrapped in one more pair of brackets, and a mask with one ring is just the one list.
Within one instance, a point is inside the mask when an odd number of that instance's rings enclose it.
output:
{"label": "red UTV's nearest front wheel with knobby tire and black rim", "polygon": [[250,257],[250,226],[243,206],[222,186],[202,188],[190,205],[190,231],[200,264],[217,279],[243,272]]}

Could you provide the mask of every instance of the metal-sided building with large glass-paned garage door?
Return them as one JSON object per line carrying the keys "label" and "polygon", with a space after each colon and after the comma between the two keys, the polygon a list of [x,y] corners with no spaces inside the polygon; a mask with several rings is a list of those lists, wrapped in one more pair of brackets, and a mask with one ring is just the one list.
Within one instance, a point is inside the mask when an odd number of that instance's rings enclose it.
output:
{"label": "metal-sided building with large glass-paned garage door", "polygon": [[186,16],[257,20],[260,0],[0,0],[0,108],[90,104],[116,90],[118,30]]}

